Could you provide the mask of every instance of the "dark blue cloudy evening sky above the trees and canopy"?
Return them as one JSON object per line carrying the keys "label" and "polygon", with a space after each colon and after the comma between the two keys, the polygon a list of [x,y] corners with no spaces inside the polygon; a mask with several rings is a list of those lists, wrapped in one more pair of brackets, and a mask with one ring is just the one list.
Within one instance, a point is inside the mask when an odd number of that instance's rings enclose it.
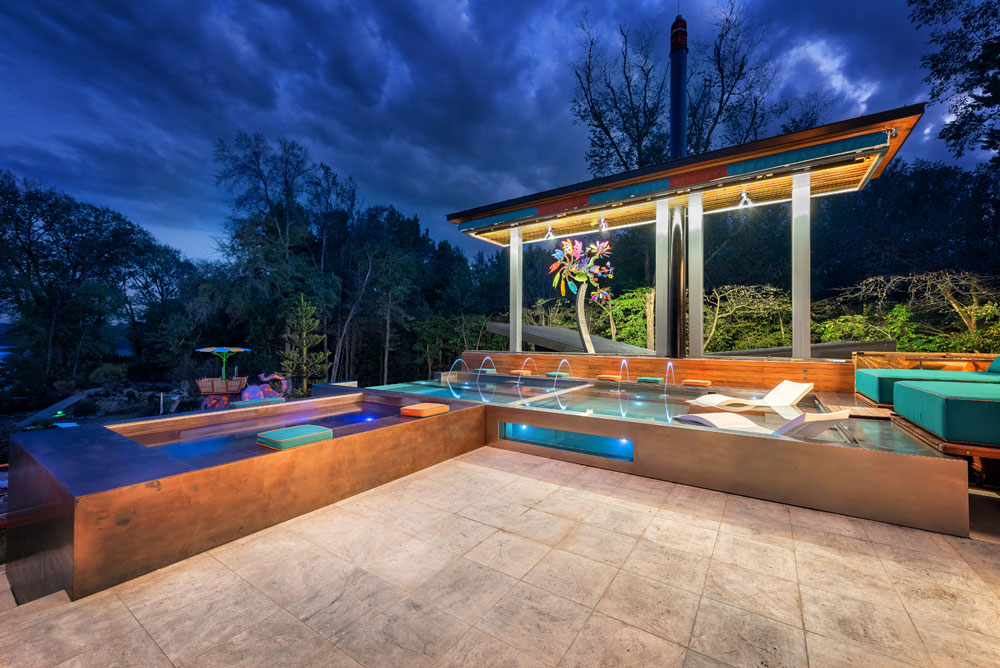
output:
{"label": "dark blue cloudy evening sky above the trees and canopy", "polygon": [[[926,30],[905,0],[750,0],[787,94],[822,87],[828,121],[927,98]],[[111,206],[212,257],[229,205],[212,149],[283,136],[353,176],[365,203],[445,214],[586,178],[569,111],[585,10],[668,27],[677,4],[558,0],[8,2],[0,6],[0,169]],[[683,0],[693,43],[715,0]],[[951,160],[932,107],[902,156]],[[967,158],[970,164],[974,157]]]}

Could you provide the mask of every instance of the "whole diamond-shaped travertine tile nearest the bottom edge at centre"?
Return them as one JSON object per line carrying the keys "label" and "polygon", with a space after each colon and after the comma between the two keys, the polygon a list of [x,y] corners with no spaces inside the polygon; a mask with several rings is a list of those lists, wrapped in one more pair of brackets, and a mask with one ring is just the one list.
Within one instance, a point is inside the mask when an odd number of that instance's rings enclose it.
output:
{"label": "whole diamond-shaped travertine tile nearest the bottom edge at centre", "polygon": [[554,666],[589,616],[590,610],[584,606],[521,582],[476,626],[542,663]]}

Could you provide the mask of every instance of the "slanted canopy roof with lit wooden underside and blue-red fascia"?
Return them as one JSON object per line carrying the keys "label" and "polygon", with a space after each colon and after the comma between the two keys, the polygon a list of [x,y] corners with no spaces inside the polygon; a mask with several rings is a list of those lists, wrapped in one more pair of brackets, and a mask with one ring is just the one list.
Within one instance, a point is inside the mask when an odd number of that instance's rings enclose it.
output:
{"label": "slanted canopy roof with lit wooden underside and blue-red fascia", "polygon": [[792,199],[792,177],[809,172],[811,197],[853,192],[878,178],[924,113],[924,103],[672,160],[448,216],[479,239],[507,246],[653,223],[656,202],[704,213]]}

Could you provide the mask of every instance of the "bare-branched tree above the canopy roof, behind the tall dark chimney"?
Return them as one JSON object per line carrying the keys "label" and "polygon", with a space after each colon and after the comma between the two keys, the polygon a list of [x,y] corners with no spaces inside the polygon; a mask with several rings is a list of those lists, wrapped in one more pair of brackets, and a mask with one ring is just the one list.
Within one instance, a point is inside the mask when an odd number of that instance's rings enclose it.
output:
{"label": "bare-branched tree above the canopy roof, behind the tall dark chimney", "polygon": [[[714,148],[719,140],[740,144],[760,138],[790,104],[774,99],[776,67],[765,50],[767,26],[753,23],[739,0],[720,8],[716,36],[692,52],[688,153]],[[572,111],[588,130],[587,167],[593,176],[629,171],[668,159],[667,69],[656,57],[662,31],[621,25],[614,56],[584,17],[581,56],[572,65]],[[813,96],[815,97],[815,96]],[[804,129],[818,122],[818,103],[807,96],[789,119]],[[811,127],[809,125],[808,127]]]}

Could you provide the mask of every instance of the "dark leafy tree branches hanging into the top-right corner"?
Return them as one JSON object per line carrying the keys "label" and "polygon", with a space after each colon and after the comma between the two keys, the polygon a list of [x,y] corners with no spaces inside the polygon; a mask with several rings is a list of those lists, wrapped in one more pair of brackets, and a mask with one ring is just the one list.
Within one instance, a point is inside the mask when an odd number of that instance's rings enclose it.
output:
{"label": "dark leafy tree branches hanging into the top-right corner", "polygon": [[941,128],[956,156],[982,149],[1000,168],[1000,0],[907,0],[917,28],[931,27],[936,51],[921,57],[931,100],[954,117]]}

